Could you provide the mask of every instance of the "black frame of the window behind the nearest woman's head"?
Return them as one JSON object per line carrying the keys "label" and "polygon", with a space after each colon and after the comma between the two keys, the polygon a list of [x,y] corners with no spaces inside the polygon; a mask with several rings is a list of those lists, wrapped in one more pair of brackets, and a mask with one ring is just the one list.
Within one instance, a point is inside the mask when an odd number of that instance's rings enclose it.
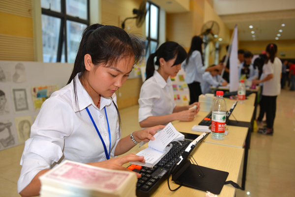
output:
{"label": "black frame of the window behind the nearest woman's head", "polygon": [[[60,21],[60,30],[59,30],[59,44],[58,44],[58,53],[57,53],[57,61],[61,62],[61,55],[62,55],[62,43],[64,42],[64,60],[65,62],[68,62],[68,54],[67,54],[67,28],[66,28],[66,22],[72,21],[77,22],[81,24],[87,25],[87,27],[90,25],[90,6],[89,6],[89,0],[87,0],[87,20],[80,19],[79,17],[74,17],[66,14],[66,0],[60,0],[60,12],[56,12],[46,8],[41,7],[41,16],[47,15],[55,18],[59,18]],[[42,20],[41,20],[42,24]],[[43,40],[42,40],[43,43]],[[42,55],[43,56],[43,55]]]}

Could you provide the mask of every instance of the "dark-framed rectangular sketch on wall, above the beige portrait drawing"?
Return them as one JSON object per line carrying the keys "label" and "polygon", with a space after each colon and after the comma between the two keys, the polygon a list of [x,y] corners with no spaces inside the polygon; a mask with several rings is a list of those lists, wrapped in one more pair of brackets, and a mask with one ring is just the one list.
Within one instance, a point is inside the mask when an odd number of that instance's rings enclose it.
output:
{"label": "dark-framed rectangular sketch on wall, above the beige portrait drawing", "polygon": [[14,110],[16,113],[29,111],[26,88],[13,88],[12,96],[13,96]]}

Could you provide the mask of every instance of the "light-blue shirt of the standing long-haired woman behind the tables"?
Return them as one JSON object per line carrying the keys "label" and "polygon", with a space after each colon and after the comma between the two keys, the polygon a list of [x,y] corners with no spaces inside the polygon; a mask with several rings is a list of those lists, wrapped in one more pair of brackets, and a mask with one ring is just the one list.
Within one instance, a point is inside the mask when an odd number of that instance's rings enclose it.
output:
{"label": "light-blue shirt of the standing long-haired woman behind the tables", "polygon": [[205,66],[202,63],[202,56],[199,51],[194,51],[189,57],[188,64],[186,59],[181,63],[181,67],[184,69],[186,76],[185,82],[192,84],[193,82],[203,82],[202,75],[205,73]]}

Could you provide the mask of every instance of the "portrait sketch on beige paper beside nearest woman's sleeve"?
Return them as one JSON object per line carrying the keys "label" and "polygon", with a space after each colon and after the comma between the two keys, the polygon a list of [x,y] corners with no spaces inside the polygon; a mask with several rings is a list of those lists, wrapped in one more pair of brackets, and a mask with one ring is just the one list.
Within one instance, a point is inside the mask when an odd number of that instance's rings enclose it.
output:
{"label": "portrait sketch on beige paper beside nearest woman's sleeve", "polygon": [[30,115],[15,117],[15,126],[19,143],[29,139],[32,117]]}

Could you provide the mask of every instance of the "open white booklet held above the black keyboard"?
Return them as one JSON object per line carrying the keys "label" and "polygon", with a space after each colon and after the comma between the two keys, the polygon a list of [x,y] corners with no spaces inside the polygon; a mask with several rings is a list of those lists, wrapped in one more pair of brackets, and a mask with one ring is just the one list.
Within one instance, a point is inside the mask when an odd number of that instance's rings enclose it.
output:
{"label": "open white booklet held above the black keyboard", "polygon": [[154,135],[155,140],[148,142],[148,148],[140,151],[136,155],[144,156],[146,162],[130,162],[130,164],[152,168],[156,165],[172,148],[172,141],[183,141],[184,135],[179,133],[171,122],[161,131]]}

